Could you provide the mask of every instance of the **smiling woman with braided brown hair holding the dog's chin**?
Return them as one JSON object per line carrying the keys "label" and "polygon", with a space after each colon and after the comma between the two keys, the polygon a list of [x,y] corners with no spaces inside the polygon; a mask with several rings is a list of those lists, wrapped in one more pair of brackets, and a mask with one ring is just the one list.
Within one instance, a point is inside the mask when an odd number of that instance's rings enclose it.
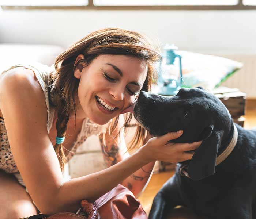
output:
{"label": "smiling woman with braided brown hair holding the dog's chin", "polygon": [[[145,139],[142,127],[133,139],[139,149],[131,156],[123,153],[123,113],[140,91],[150,90],[158,60],[146,37],[108,28],[61,53],[55,69],[34,64],[3,72],[0,218],[75,212],[80,200],[94,201],[119,183],[138,195],[156,160],[191,159],[193,153],[186,151],[200,142],[167,143],[182,131]],[[99,136],[109,168],[65,181],[64,164],[91,134]]]}

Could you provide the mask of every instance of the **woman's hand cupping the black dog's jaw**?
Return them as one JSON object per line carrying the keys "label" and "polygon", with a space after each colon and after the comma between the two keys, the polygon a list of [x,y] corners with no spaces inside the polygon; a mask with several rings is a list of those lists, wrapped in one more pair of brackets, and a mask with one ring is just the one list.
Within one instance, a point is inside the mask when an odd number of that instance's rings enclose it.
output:
{"label": "woman's hand cupping the black dog's jaw", "polygon": [[192,150],[197,149],[202,141],[193,143],[168,143],[168,141],[176,139],[183,134],[180,132],[168,132],[159,137],[150,138],[147,143],[142,147],[143,156],[148,162],[151,161],[165,161],[170,163],[182,162],[190,160],[195,153]]}

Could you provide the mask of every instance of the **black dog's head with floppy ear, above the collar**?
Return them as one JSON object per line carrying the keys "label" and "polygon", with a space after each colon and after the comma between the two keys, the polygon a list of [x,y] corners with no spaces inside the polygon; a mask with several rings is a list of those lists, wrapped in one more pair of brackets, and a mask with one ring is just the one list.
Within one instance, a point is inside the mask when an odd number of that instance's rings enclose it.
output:
{"label": "black dog's head with floppy ear, above the collar", "polygon": [[155,136],[184,131],[181,137],[170,142],[203,140],[189,161],[188,174],[193,180],[214,174],[223,134],[233,124],[225,105],[201,87],[181,88],[172,97],[142,91],[134,107],[134,116]]}

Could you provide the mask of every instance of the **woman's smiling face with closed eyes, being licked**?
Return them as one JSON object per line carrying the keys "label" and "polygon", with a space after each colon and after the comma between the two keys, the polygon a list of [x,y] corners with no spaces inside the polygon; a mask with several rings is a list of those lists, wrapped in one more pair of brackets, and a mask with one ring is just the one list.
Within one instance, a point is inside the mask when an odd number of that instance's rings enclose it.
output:
{"label": "woman's smiling face with closed eyes, being licked", "polygon": [[[80,59],[84,59],[83,55],[79,55],[76,62]],[[85,63],[81,62],[82,65]],[[99,55],[90,65],[78,66],[74,76],[80,79],[77,117],[88,117],[103,125],[138,97],[147,77],[147,65],[127,55]]]}

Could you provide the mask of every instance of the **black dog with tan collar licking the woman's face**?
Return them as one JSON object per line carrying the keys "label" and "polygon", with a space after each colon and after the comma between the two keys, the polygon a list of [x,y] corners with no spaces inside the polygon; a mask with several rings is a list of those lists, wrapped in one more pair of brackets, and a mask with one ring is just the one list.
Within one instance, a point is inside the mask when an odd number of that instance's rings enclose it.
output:
{"label": "black dog with tan collar licking the woman's face", "polygon": [[203,140],[157,193],[150,219],[165,218],[177,205],[212,219],[256,219],[256,131],[234,124],[215,95],[200,87],[173,97],[142,91],[134,113],[152,135],[182,129],[172,142]]}

